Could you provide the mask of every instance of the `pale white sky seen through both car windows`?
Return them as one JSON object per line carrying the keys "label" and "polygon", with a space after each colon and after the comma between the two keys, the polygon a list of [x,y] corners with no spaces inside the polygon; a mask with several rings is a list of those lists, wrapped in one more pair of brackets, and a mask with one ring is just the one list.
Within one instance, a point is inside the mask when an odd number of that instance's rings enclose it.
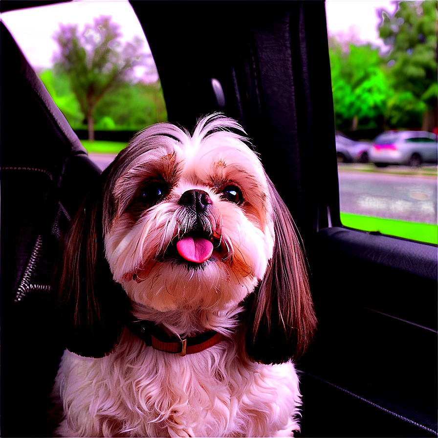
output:
{"label": "pale white sky seen through both car windows", "polygon": [[[205,0],[204,0],[205,1]],[[382,46],[376,31],[376,7],[394,10],[393,1],[377,0],[327,0],[328,32],[347,33],[354,25],[354,33],[361,41]],[[58,23],[78,23],[82,29],[92,17],[111,15],[113,21],[121,24],[124,39],[134,35],[144,39],[144,34],[128,0],[78,0],[69,3],[34,7],[1,14],[2,21],[9,28],[18,44],[36,68],[50,67],[53,52],[57,49],[52,36]],[[145,40],[145,48],[149,46]]]}

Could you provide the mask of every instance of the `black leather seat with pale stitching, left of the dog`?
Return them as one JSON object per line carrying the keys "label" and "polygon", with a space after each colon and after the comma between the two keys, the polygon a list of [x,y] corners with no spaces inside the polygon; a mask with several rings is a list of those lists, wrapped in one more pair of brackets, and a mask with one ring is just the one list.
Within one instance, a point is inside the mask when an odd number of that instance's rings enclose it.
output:
{"label": "black leather seat with pale stitching, left of the dog", "polygon": [[51,275],[99,175],[1,23],[1,436],[46,437],[62,343]]}

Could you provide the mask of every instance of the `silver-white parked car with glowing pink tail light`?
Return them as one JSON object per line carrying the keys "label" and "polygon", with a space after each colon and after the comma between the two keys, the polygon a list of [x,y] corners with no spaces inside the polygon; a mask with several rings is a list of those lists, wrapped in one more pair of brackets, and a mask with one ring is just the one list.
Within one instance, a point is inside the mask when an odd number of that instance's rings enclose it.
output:
{"label": "silver-white parked car with glowing pink tail light", "polygon": [[388,131],[374,139],[369,159],[377,167],[402,164],[419,167],[437,163],[437,134],[427,131]]}

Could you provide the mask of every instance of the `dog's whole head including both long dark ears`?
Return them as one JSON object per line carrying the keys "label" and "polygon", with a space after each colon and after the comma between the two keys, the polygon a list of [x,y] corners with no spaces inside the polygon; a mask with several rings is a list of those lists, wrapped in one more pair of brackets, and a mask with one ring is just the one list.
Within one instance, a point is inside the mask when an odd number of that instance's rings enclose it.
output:
{"label": "dog's whole head including both long dark ears", "polygon": [[138,308],[155,322],[175,309],[213,317],[250,294],[240,307],[248,355],[281,363],[306,350],[316,320],[294,223],[235,131],[220,115],[193,135],[158,124],[101,175],[54,282],[69,350],[108,354]]}

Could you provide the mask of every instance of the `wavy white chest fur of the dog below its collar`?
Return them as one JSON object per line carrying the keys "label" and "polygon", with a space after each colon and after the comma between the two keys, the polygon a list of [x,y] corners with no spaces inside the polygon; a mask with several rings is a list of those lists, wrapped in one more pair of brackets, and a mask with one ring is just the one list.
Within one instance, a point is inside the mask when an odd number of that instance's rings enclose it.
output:
{"label": "wavy white chest fur of the dog below its collar", "polygon": [[233,341],[180,357],[125,333],[101,359],[66,351],[53,395],[65,415],[57,432],[67,437],[260,437],[299,430],[293,364],[253,363]]}

